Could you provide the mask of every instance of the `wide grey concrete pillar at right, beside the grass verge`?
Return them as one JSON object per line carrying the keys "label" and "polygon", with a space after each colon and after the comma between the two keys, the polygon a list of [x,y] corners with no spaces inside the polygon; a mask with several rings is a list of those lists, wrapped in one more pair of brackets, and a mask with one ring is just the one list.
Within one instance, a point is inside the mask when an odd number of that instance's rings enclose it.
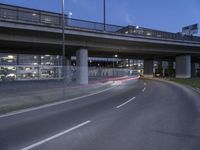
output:
{"label": "wide grey concrete pillar at right, beside the grass verge", "polygon": [[191,78],[191,56],[176,57],[176,78]]}

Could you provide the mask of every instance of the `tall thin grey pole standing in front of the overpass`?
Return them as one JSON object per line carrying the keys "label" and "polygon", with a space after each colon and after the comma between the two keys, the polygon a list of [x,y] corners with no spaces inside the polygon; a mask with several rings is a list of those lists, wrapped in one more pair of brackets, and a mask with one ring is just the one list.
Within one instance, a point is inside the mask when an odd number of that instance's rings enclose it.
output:
{"label": "tall thin grey pole standing in front of the overpass", "polygon": [[65,78],[65,0],[62,0],[62,66],[63,66],[63,78]]}

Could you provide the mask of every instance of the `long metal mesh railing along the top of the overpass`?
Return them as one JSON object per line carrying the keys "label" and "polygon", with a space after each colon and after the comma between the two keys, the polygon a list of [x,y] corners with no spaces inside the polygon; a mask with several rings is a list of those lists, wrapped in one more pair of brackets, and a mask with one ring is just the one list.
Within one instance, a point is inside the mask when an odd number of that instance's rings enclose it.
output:
{"label": "long metal mesh railing along the top of the overpass", "polygon": [[[10,6],[5,4],[0,4],[0,20],[31,23],[31,24],[38,24],[45,26],[54,26],[54,27],[61,27],[62,25],[61,14],[47,12],[47,11],[40,11],[36,9]],[[81,29],[104,31],[103,23],[73,19],[73,18],[68,18],[67,16],[65,17],[65,25]],[[152,30],[137,26],[124,27],[124,26],[106,24],[105,31],[120,35],[139,36],[145,38],[150,37],[161,40],[171,39],[171,40],[200,42],[200,37],[198,36],[188,36],[188,35],[183,35],[182,33],[163,32],[159,30]]]}

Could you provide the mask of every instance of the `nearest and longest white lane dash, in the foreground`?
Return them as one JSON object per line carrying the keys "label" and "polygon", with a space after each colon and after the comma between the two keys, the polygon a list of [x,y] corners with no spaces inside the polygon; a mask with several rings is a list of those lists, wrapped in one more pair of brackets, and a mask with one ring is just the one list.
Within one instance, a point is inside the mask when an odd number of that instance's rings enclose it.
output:
{"label": "nearest and longest white lane dash, in the foreground", "polygon": [[81,123],[81,124],[79,124],[79,125],[77,125],[77,126],[74,126],[74,127],[70,128],[70,129],[68,129],[68,130],[66,130],[66,131],[63,131],[63,132],[61,132],[61,133],[58,133],[58,134],[56,134],[56,135],[54,135],[54,136],[51,136],[51,137],[49,137],[49,138],[46,138],[46,139],[44,139],[44,140],[42,140],[42,141],[40,141],[40,142],[37,142],[37,143],[35,143],[35,144],[32,144],[32,145],[27,146],[27,147],[25,147],[25,148],[22,148],[21,150],[30,150],[30,149],[32,149],[32,148],[34,148],[34,147],[37,147],[37,146],[39,146],[39,145],[42,145],[42,144],[44,144],[44,143],[46,143],[46,142],[48,142],[48,141],[50,141],[50,140],[53,140],[53,139],[55,139],[55,138],[58,138],[58,137],[60,137],[60,136],[62,136],[62,135],[64,135],[64,134],[66,134],[66,133],[69,133],[69,132],[71,132],[71,131],[73,131],[73,130],[75,130],[75,129],[78,129],[78,128],[80,128],[80,127],[82,127],[82,126],[84,126],[84,125],[86,125],[86,124],[89,124],[89,123],[91,123],[90,120],[88,120],[88,121],[86,121],[86,122],[83,122],[83,123]]}

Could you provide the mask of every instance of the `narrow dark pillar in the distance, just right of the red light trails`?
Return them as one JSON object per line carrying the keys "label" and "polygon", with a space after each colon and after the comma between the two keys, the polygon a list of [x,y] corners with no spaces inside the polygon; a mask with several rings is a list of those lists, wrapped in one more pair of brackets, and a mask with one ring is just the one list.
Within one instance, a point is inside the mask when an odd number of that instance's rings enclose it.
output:
{"label": "narrow dark pillar in the distance, just right of the red light trails", "polygon": [[153,60],[144,60],[144,77],[153,78]]}

